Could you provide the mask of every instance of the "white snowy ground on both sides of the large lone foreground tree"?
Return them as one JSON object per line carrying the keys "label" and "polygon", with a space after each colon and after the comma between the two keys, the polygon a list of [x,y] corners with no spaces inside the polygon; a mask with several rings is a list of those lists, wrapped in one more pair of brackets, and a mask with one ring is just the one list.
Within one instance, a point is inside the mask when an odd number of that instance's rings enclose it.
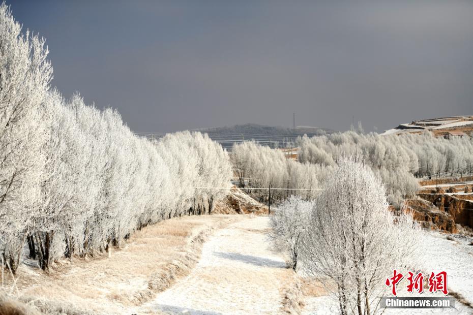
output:
{"label": "white snowy ground on both sides of the large lone foreground tree", "polygon": [[[198,265],[189,276],[176,282],[142,312],[169,314],[275,314],[281,313],[282,292],[288,275],[282,256],[268,248],[265,230],[268,217],[244,219],[219,230],[204,244]],[[422,238],[426,259],[420,270],[447,271],[451,293],[473,303],[473,238],[425,232]],[[398,286],[398,296],[419,296]],[[442,297],[441,293],[422,296]],[[306,297],[303,314],[338,313],[337,300],[329,296]],[[384,314],[471,314],[473,309],[456,301],[456,309],[387,309]]]}

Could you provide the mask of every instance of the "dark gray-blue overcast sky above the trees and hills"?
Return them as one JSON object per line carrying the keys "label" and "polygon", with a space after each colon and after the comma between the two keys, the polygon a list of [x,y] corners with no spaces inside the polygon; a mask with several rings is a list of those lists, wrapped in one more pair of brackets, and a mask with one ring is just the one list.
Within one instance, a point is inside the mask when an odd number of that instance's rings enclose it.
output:
{"label": "dark gray-blue overcast sky above the trees and hills", "polygon": [[22,1],[53,85],[137,132],[473,115],[473,1]]}

